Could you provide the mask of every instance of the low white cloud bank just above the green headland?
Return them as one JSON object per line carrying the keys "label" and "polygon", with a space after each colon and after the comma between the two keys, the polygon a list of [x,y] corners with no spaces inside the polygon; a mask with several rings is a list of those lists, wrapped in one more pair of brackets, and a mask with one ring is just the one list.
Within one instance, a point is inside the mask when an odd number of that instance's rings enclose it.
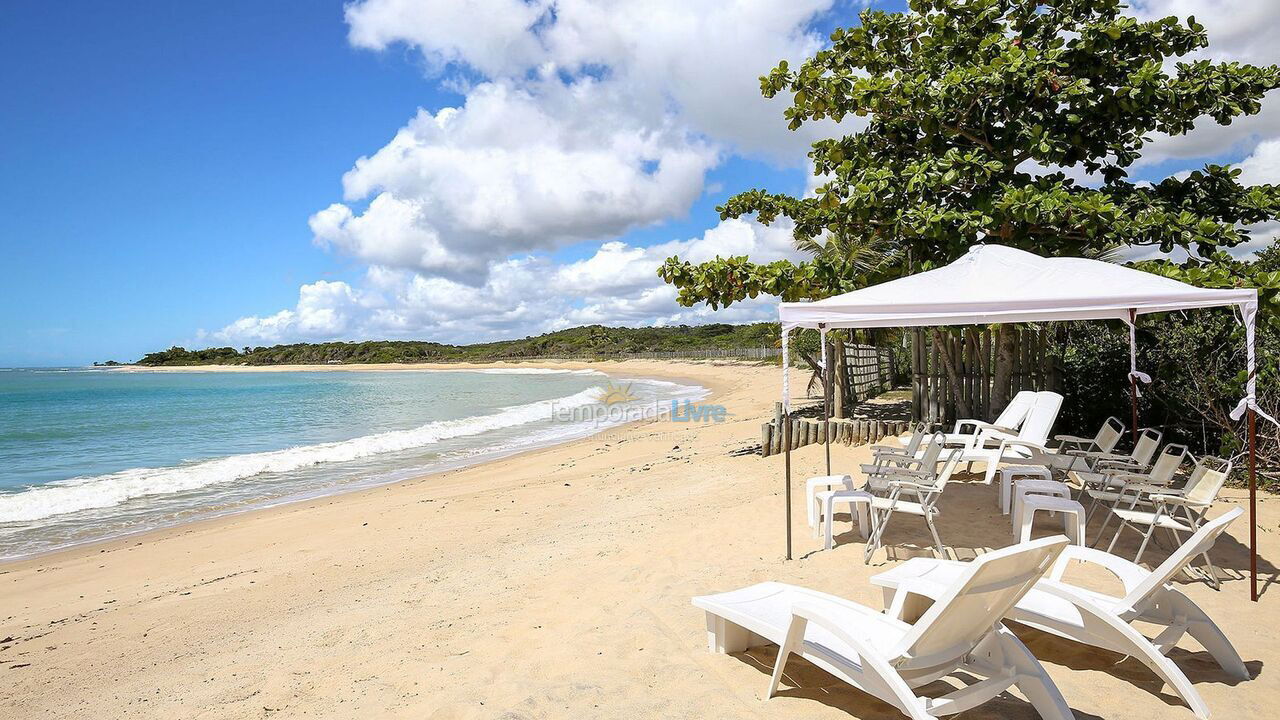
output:
{"label": "low white cloud bank just above the green headland", "polygon": [[202,340],[262,345],[296,340],[429,337],[444,342],[506,338],[590,323],[659,325],[755,322],[777,315],[760,297],[719,313],[681,307],[657,275],[669,255],[699,263],[717,255],[756,261],[797,259],[786,224],[724,220],[700,237],[650,247],[607,242],[588,258],[556,264],[524,256],[490,264],[483,284],[371,266],[360,287],[343,282],[302,286],[293,309],[241,318]]}

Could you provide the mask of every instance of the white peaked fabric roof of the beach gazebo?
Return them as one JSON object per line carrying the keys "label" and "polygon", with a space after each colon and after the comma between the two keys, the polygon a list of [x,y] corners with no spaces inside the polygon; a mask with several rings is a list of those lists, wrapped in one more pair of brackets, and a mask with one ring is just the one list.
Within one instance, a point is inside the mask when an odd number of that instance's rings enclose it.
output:
{"label": "white peaked fabric roof of the beach gazebo", "polygon": [[977,245],[934,270],[815,302],[783,302],[782,327],[878,328],[1128,319],[1192,307],[1257,306],[1256,290],[1207,290],[1084,258]]}

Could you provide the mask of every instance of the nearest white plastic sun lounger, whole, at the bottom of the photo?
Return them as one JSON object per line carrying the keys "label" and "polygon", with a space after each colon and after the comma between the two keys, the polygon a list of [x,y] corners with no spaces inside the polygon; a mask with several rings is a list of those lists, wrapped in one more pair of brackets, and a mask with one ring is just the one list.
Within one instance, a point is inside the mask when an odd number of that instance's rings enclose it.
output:
{"label": "nearest white plastic sun lounger, whole, at the bottom of the photo", "polygon": [[[1044,667],[1000,623],[1065,546],[1066,538],[1053,537],[988,552],[968,564],[915,624],[783,583],[695,597],[694,605],[707,612],[712,652],[778,646],[769,697],[794,653],[913,720],[963,712],[1010,687],[1041,717],[1070,720],[1071,710]],[[920,697],[913,689],[948,675],[972,684],[942,697]]]}

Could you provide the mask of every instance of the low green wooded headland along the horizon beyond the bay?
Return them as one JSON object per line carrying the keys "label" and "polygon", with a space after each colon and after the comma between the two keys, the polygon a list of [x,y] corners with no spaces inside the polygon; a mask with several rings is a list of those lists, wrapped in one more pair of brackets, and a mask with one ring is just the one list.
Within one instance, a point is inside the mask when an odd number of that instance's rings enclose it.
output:
{"label": "low green wooded headland along the horizon beyond the bay", "polygon": [[522,357],[561,357],[773,347],[776,323],[751,325],[680,325],[671,328],[607,328],[586,325],[524,340],[476,345],[443,345],[420,341],[302,342],[271,347],[170,347],[148,352],[138,365],[312,365],[339,363],[448,363]]}

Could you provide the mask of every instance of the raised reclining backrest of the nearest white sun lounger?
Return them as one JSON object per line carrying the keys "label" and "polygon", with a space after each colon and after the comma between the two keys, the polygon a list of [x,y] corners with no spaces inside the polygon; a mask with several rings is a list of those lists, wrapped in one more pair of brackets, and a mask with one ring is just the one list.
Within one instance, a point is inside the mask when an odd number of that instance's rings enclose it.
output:
{"label": "raised reclining backrest of the nearest white sun lounger", "polygon": [[928,670],[956,662],[1052,568],[1066,547],[1062,536],[983,553],[924,612],[890,653],[901,669]]}

